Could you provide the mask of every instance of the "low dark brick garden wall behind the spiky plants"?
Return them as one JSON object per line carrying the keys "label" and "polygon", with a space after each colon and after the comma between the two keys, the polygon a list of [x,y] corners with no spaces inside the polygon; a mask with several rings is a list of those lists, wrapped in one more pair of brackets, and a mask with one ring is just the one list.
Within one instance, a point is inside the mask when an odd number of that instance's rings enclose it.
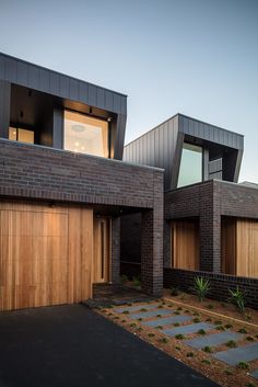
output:
{"label": "low dark brick garden wall behind the spiky plants", "polygon": [[228,288],[235,289],[238,285],[246,292],[246,305],[258,309],[258,278],[236,277],[226,274],[215,274],[209,272],[191,272],[178,269],[164,269],[164,287],[178,287],[181,291],[194,293],[195,276],[209,278],[211,289],[209,298],[226,301],[228,298]]}

